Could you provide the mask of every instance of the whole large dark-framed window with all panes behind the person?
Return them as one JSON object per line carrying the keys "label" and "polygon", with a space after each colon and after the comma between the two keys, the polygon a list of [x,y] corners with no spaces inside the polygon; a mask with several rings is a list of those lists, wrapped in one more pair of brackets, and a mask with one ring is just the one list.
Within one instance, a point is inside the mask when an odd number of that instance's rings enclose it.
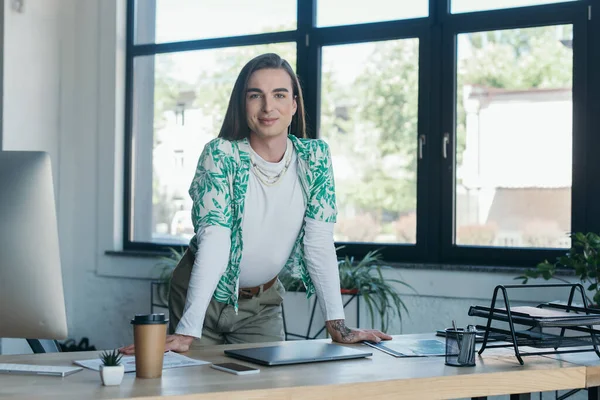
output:
{"label": "whole large dark-framed window with all panes behind the person", "polygon": [[593,1],[128,0],[124,248],[187,244],[198,156],[242,66],[276,52],[331,147],[341,252],[564,253],[570,232],[600,231]]}

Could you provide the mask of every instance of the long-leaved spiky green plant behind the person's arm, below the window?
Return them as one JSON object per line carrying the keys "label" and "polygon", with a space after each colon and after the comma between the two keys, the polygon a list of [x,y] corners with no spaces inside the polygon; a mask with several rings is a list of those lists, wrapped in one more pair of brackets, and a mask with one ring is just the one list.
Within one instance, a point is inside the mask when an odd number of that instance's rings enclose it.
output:
{"label": "long-leaved spiky green plant behind the person's arm, below the window", "polygon": [[[368,252],[361,260],[346,256],[338,260],[338,268],[341,293],[362,296],[369,312],[371,326],[375,326],[375,317],[378,316],[380,329],[385,332],[392,318],[397,316],[402,321],[402,310],[408,313],[395,284],[414,289],[399,279],[383,276],[383,271],[389,270],[391,267],[383,265],[379,250]],[[279,279],[287,291],[301,292],[305,290],[302,281],[292,276],[287,270],[280,274]]]}

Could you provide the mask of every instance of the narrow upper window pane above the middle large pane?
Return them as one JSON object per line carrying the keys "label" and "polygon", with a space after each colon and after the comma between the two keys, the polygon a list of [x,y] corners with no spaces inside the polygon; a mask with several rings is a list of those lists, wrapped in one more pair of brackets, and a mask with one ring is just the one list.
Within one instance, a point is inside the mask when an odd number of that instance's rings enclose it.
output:
{"label": "narrow upper window pane above the middle large pane", "polygon": [[367,22],[421,18],[428,15],[428,0],[317,1],[317,26],[364,24]]}

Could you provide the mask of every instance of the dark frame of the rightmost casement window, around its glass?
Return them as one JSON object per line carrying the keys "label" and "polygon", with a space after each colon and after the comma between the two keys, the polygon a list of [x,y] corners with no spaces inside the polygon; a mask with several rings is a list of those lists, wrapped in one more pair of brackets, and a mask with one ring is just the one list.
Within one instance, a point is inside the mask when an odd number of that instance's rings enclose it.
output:
{"label": "dark frame of the rightmost casement window, around its glass", "polygon": [[[542,7],[540,10],[538,7]],[[454,219],[454,168],[456,156],[456,37],[461,33],[494,31],[500,29],[530,28],[548,25],[573,25],[573,171],[571,186],[571,230],[586,230],[585,220],[585,166],[582,150],[585,149],[585,121],[582,117],[586,109],[586,48],[587,6],[585,2],[558,3],[543,6],[514,9],[480,11],[477,13],[449,14],[443,28],[442,58],[453,60],[443,69],[442,78],[442,129],[450,133],[449,157],[442,159],[442,192],[446,200],[442,204],[442,249],[441,258],[448,263],[477,265],[536,265],[544,259],[554,260],[565,253],[559,249],[502,248],[480,246],[457,246],[453,243]],[[470,14],[478,14],[470,18]],[[441,143],[441,139],[440,139]],[[579,205],[583,205],[580,207]]]}

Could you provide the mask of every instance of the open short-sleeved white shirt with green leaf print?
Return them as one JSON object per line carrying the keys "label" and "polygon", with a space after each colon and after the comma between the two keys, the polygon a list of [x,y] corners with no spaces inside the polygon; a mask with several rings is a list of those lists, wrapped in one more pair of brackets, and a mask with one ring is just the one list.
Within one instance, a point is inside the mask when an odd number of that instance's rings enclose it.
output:
{"label": "open short-sleeved white shirt with green leaf print", "polygon": [[[306,203],[305,217],[323,222],[335,222],[337,216],[335,183],[331,154],[327,143],[320,139],[299,139],[290,135],[298,159],[298,177]],[[238,310],[240,261],[242,259],[242,221],[250,173],[250,155],[240,149],[240,142],[214,139],[205,147],[196,168],[189,194],[192,198],[192,222],[196,235],[207,226],[231,229],[231,250],[225,273],[217,285],[215,300]],[[285,264],[299,276],[307,297],[315,293],[304,259],[304,226],[302,224],[292,252]],[[196,236],[190,250],[197,251]]]}

